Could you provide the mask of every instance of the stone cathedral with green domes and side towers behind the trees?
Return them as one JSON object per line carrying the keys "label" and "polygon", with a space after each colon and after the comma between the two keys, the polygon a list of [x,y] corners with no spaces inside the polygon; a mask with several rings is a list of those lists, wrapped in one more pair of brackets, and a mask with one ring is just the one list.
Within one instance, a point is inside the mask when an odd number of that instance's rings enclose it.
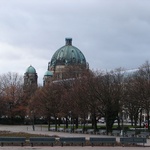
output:
{"label": "stone cathedral with green domes and side towers behind the trees", "polygon": [[[65,39],[65,45],[59,48],[48,62],[47,71],[43,77],[43,86],[53,81],[72,78],[66,76],[68,68],[72,67],[70,72],[74,73],[74,77],[80,77],[85,69],[89,69],[84,54],[72,45],[72,38]],[[24,86],[37,86],[37,72],[33,66],[29,66],[24,73]]]}

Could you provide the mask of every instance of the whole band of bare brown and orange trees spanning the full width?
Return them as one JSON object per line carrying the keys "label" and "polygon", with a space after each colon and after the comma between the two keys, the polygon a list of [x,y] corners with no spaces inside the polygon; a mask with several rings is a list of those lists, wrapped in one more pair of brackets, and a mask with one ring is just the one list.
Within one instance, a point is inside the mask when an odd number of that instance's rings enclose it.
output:
{"label": "whole band of bare brown and orange trees spanning the full width", "polygon": [[122,69],[109,72],[85,70],[81,77],[53,82],[38,87],[36,91],[32,88],[25,93],[22,77],[16,73],[1,75],[0,116],[9,118],[12,123],[16,117],[43,117],[48,122],[48,129],[52,118],[56,129],[59,118],[65,120],[66,128],[71,118],[76,128],[79,121],[82,121],[85,129],[86,119],[90,114],[95,131],[97,120],[105,118],[108,133],[112,131],[116,119],[120,127],[123,111],[130,116],[134,125],[139,120],[142,122],[143,112],[149,120],[149,62],[131,72]]}

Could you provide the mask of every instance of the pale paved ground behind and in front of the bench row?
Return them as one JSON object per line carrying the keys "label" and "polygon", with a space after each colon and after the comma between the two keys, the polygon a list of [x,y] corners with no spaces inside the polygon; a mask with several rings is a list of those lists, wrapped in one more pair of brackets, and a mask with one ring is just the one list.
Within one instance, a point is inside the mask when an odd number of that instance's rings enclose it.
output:
{"label": "pale paved ground behind and in front of the bench row", "polygon": [[[0,125],[0,131],[12,131],[12,132],[27,132],[32,134],[41,134],[41,135],[57,135],[61,137],[86,137],[86,139],[89,139],[89,137],[100,137],[100,136],[106,136],[106,135],[90,135],[90,134],[75,134],[75,133],[65,133],[65,132],[51,132],[48,131],[46,127],[44,126],[36,126],[35,131],[32,130],[32,126],[9,126],[9,125]],[[117,141],[119,141],[119,137],[116,137]],[[147,143],[145,144],[145,147],[122,147],[122,146],[4,146],[0,147],[0,150],[145,150],[150,149],[150,139],[147,140]]]}

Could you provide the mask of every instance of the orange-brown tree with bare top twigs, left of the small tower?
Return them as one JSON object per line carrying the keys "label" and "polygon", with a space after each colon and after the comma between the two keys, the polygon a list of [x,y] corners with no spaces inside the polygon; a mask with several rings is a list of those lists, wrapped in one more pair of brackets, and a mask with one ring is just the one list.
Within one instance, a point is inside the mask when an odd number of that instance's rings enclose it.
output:
{"label": "orange-brown tree with bare top twigs, left of the small tower", "polygon": [[23,99],[23,80],[17,73],[7,73],[0,76],[1,92],[4,99],[5,116],[13,123],[14,117],[24,118],[26,107]]}

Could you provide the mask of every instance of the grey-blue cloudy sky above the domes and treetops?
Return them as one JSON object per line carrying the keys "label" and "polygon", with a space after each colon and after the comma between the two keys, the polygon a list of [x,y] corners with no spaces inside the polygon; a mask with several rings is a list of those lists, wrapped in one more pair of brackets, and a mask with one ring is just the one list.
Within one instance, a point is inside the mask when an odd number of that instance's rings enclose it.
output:
{"label": "grey-blue cloudy sky above the domes and treetops", "polygon": [[91,69],[132,69],[150,61],[150,0],[0,0],[0,74],[38,80],[71,37]]}

